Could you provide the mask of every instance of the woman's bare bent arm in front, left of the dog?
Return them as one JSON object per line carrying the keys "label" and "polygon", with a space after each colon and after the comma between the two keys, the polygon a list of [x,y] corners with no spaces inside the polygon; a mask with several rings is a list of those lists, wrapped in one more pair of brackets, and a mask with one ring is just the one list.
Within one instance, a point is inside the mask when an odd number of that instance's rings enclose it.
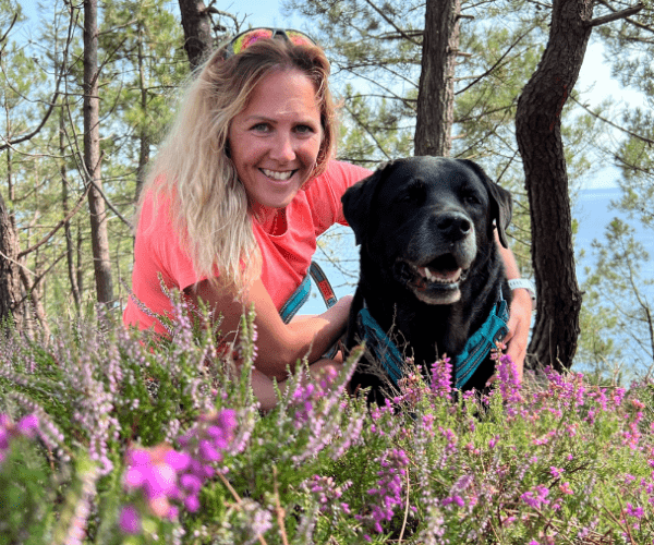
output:
{"label": "woman's bare bent arm in front, left of the dog", "polygon": [[295,362],[305,355],[315,362],[344,332],[352,298],[341,298],[336,305],[317,316],[284,324],[261,279],[250,288],[247,295],[239,300],[233,288],[203,280],[185,290],[197,304],[208,304],[216,316],[222,315],[220,331],[228,341],[235,338],[241,316],[254,303],[254,323],[257,330],[257,355],[255,367],[269,377],[287,378],[287,366],[294,370]]}

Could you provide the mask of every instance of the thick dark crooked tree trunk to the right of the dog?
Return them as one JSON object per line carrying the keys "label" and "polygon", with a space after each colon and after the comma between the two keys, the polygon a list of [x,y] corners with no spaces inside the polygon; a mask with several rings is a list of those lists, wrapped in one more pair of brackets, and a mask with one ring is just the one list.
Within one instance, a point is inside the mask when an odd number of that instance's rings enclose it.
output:
{"label": "thick dark crooked tree trunk to the right of the dog", "polygon": [[591,36],[592,0],[554,0],[549,40],[518,100],[516,136],[524,165],[538,290],[529,366],[572,365],[581,293],[574,270],[568,174],[560,113]]}

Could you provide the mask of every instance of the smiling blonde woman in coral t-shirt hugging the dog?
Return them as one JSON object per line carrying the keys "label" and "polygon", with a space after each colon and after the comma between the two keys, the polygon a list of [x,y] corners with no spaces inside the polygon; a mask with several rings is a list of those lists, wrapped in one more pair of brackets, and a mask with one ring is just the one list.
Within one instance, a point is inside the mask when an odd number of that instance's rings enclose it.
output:
{"label": "smiling blonde woman in coral t-shirt hugging the dog", "polygon": [[[222,315],[228,340],[254,304],[253,389],[264,410],[276,403],[271,377],[287,378],[298,359],[306,355],[314,374],[340,368],[320,354],[343,332],[351,296],[289,324],[279,315],[306,275],[316,237],[335,222],[347,225],[342,193],[370,173],[331,160],[328,75],[324,51],[302,33],[258,28],[237,36],[191,82],[140,203],[134,296],[155,314],[170,312],[161,277],[168,289]],[[517,277],[512,254],[505,261],[509,278]],[[526,346],[531,301],[526,295],[524,312],[521,299],[512,306],[510,350]],[[165,334],[148,314],[131,300],[124,322]]]}

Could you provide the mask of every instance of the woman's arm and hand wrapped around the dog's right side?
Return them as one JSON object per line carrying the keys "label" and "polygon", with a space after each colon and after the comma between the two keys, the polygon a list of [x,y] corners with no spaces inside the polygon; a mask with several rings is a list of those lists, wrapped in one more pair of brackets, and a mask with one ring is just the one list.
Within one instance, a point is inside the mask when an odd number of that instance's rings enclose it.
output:
{"label": "woman's arm and hand wrapped around the dog's right side", "polygon": [[[520,278],[520,270],[516,263],[513,253],[504,247],[497,239],[497,231],[495,233],[497,240],[497,246],[501,255],[505,271],[509,280],[513,278]],[[518,375],[522,380],[522,371],[524,367],[524,358],[526,355],[526,344],[529,341],[529,328],[531,326],[532,316],[532,301],[531,295],[524,289],[513,290],[513,299],[509,308],[509,332],[505,337],[504,341],[507,344],[507,354],[511,356],[511,360],[516,363]]]}

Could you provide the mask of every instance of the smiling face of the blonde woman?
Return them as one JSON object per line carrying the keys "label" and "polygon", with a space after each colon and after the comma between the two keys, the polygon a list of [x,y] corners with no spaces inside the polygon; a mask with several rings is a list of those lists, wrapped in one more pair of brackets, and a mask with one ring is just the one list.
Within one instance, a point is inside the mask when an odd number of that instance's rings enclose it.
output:
{"label": "smiling face of the blonde woman", "polygon": [[229,128],[230,157],[255,211],[293,199],[314,170],[322,142],[312,81],[299,70],[264,77]]}

